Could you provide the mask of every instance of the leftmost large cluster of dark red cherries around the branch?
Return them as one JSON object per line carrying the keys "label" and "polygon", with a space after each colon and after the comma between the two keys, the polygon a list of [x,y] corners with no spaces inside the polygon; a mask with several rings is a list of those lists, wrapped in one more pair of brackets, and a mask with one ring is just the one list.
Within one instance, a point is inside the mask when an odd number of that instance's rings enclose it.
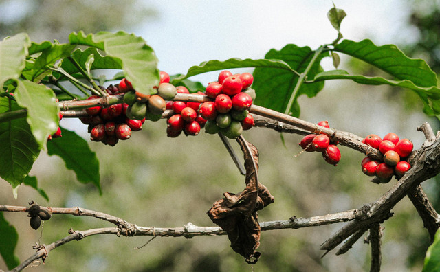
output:
{"label": "leftmost large cluster of dark red cherries around the branch", "polygon": [[[124,78],[117,86],[109,85],[105,90],[109,95],[118,95],[123,93],[123,91],[130,91],[130,88],[130,82]],[[100,97],[97,95],[89,97],[89,99],[94,98]],[[106,108],[92,106],[85,109],[89,116],[80,117],[80,120],[84,124],[89,125],[90,139],[92,141],[101,141],[104,144],[115,146],[119,140],[129,139],[132,131],[140,131],[142,124],[145,122],[145,116],[141,118],[140,115],[137,115],[138,112],[131,111],[131,108],[126,103],[113,104]]]}

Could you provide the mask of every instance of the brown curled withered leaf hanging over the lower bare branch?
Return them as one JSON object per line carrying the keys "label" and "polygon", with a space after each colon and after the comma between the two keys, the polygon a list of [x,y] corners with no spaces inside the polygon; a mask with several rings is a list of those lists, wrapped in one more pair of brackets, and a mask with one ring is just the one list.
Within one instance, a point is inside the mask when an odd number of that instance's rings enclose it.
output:
{"label": "brown curled withered leaf hanging over the lower bare branch", "polygon": [[245,159],[246,187],[242,192],[225,192],[224,198],[216,201],[207,212],[213,223],[226,231],[231,247],[250,264],[256,263],[261,253],[256,251],[260,245],[260,225],[256,211],[274,202],[265,185],[259,183],[259,151],[243,136],[237,141]]}

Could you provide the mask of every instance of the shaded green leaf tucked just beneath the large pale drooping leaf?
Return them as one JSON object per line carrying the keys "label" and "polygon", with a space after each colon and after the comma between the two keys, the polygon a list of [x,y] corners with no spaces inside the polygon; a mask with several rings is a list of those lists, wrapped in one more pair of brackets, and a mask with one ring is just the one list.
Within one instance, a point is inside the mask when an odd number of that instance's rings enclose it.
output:
{"label": "shaded green leaf tucked just beneath the large pale drooping leaf", "polygon": [[[89,56],[94,56],[94,62],[91,65],[91,70],[95,69],[122,69],[121,61],[118,58],[113,58],[111,56],[102,56],[98,49],[95,47],[89,47],[85,50],[76,49],[72,57],[76,60],[77,63],[83,68],[86,69],[85,63],[87,62],[87,58]],[[78,69],[72,64],[72,62],[65,60],[61,65],[61,68],[67,73],[77,73]]]}

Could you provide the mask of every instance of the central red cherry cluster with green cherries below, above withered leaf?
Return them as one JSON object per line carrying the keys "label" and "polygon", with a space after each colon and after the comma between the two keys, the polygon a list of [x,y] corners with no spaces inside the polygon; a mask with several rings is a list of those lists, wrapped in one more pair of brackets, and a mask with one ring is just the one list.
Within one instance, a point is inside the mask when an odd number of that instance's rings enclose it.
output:
{"label": "central red cherry cluster with green cherries below, above withered leaf", "polygon": [[254,126],[248,111],[255,99],[255,91],[250,88],[253,81],[250,73],[232,74],[225,70],[219,73],[218,81],[208,84],[205,94],[212,101],[199,107],[201,117],[207,120],[206,133],[222,133],[234,139]]}

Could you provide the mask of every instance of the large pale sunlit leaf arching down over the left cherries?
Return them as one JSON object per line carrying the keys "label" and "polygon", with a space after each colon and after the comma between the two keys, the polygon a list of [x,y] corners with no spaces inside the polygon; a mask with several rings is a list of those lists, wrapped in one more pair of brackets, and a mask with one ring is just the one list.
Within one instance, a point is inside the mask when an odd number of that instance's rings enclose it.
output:
{"label": "large pale sunlit leaf arching down over the left cherries", "polygon": [[107,56],[120,59],[126,78],[136,91],[156,93],[153,87],[159,85],[157,58],[143,38],[122,31],[98,32],[87,36],[84,32],[74,32],[69,35],[69,41],[75,45],[96,47]]}

